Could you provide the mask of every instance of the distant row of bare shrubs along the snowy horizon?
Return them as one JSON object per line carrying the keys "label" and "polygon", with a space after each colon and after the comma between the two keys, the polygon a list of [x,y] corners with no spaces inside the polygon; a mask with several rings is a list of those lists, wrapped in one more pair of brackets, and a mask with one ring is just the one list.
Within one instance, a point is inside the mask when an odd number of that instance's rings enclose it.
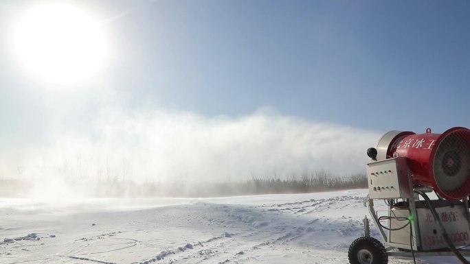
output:
{"label": "distant row of bare shrubs along the snowy horizon", "polygon": [[[74,180],[71,186],[77,187]],[[0,178],[0,197],[16,197],[27,194],[31,184],[25,180]],[[85,186],[85,185],[84,185]],[[86,184],[87,193],[93,197],[216,197],[231,195],[258,195],[269,193],[312,193],[341,189],[367,188],[367,176],[355,174],[335,176],[326,171],[278,176],[252,177],[242,182],[173,182],[136,184],[117,179],[101,180]]]}

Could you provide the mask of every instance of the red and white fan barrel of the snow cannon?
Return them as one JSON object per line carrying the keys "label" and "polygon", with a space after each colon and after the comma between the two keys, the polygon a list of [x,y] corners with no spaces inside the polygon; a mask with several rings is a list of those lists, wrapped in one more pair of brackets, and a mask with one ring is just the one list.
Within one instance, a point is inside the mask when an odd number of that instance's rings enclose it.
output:
{"label": "red and white fan barrel of the snow cannon", "polygon": [[[470,195],[470,130],[451,128],[434,134],[391,131],[377,144],[377,161],[406,157],[416,187],[431,187],[447,200]],[[371,172],[373,173],[373,172]]]}

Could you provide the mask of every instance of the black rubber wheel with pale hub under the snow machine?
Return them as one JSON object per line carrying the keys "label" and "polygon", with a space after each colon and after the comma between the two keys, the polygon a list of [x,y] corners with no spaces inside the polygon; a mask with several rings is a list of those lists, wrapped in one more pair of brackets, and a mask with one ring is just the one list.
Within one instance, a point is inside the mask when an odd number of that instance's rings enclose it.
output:
{"label": "black rubber wheel with pale hub under the snow machine", "polygon": [[373,237],[359,237],[348,251],[350,264],[387,264],[388,255],[382,243]]}

